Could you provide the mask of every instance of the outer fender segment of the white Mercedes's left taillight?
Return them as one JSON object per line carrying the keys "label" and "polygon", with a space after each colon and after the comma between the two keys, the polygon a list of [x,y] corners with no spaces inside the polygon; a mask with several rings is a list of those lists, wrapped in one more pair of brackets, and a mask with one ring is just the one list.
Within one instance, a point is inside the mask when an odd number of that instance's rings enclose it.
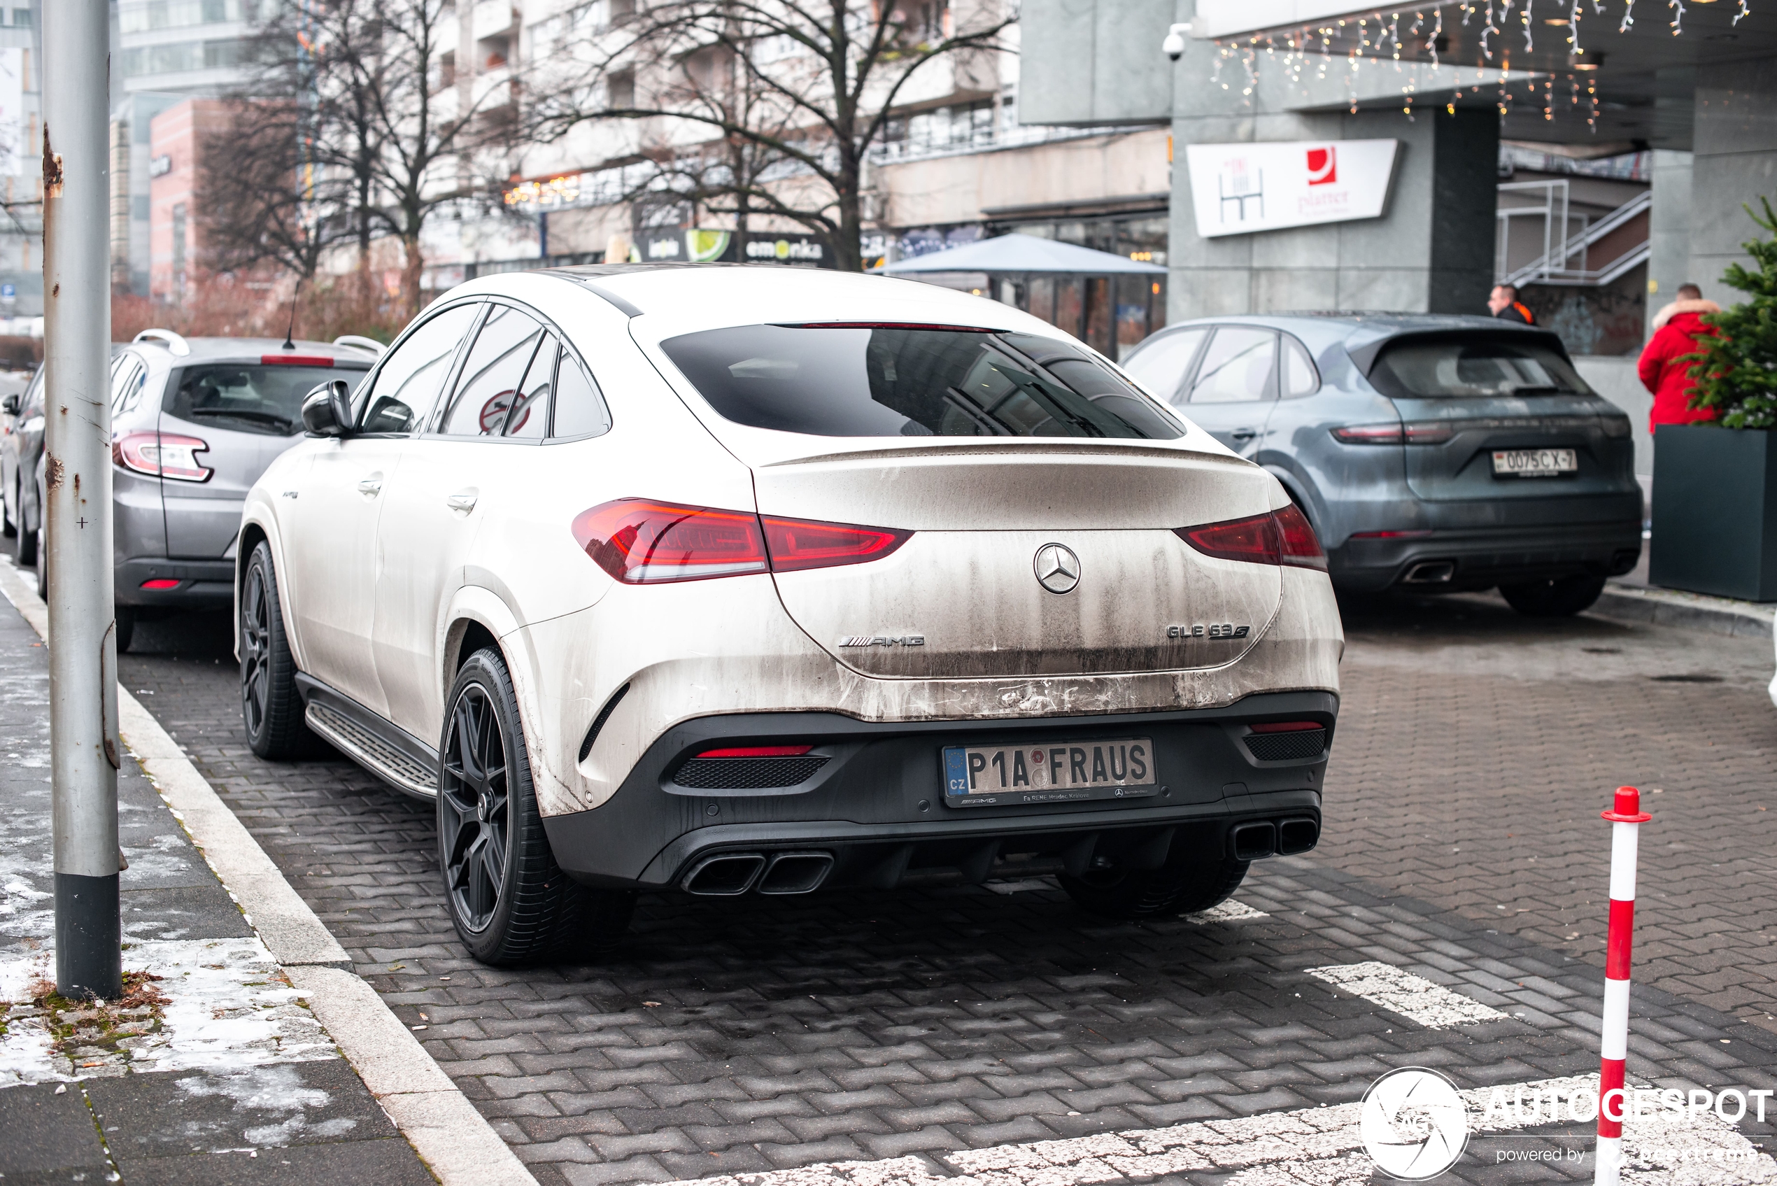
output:
{"label": "outer fender segment of the white Mercedes's left taillight", "polygon": [[769,567],[759,516],[743,510],[618,498],[583,510],[574,519],[574,539],[626,585],[741,576]]}

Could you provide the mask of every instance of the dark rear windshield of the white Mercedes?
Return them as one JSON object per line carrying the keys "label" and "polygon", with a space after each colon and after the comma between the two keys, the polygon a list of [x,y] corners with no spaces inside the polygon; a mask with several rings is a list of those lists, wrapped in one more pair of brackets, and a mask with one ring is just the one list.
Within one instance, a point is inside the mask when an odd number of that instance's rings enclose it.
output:
{"label": "dark rear windshield of the white Mercedes", "polygon": [[725,420],[809,436],[1183,436],[1052,338],[936,327],[741,325],[661,347]]}

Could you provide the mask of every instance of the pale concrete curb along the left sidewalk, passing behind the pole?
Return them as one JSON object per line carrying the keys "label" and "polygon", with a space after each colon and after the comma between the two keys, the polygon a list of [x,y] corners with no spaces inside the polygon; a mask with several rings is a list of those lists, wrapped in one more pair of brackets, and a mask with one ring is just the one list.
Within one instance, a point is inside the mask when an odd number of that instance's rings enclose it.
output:
{"label": "pale concrete curb along the left sidewalk, passing behind the pole", "polygon": [[[0,594],[48,642],[48,606],[34,585],[0,558]],[[160,722],[117,688],[124,743],[190,832],[192,843],[240,903],[247,923],[284,966],[315,1017],[364,1086],[442,1186],[537,1186],[517,1154],[474,1110],[377,990],[338,967],[350,957],[327,925],[235,818]]]}

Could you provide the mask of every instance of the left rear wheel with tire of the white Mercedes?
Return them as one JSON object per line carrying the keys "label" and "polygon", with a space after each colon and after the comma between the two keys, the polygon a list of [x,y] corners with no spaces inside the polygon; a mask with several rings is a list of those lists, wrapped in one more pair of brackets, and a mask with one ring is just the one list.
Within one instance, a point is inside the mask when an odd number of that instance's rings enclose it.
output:
{"label": "left rear wheel with tire of the white Mercedes", "polygon": [[549,852],[499,651],[483,647],[457,672],[439,754],[439,869],[469,953],[515,967],[615,946],[634,894],[581,885]]}

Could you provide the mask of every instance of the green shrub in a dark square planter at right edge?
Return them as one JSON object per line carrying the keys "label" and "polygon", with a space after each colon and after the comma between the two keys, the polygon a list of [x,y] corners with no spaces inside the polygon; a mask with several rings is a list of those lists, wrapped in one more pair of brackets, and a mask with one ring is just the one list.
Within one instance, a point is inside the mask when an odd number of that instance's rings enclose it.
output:
{"label": "green shrub in a dark square planter at right edge", "polygon": [[1777,601],[1777,213],[1747,208],[1768,238],[1743,244],[1756,268],[1729,265],[1722,283],[1747,301],[1702,322],[1715,334],[1685,356],[1690,405],[1715,413],[1654,434],[1654,585]]}

